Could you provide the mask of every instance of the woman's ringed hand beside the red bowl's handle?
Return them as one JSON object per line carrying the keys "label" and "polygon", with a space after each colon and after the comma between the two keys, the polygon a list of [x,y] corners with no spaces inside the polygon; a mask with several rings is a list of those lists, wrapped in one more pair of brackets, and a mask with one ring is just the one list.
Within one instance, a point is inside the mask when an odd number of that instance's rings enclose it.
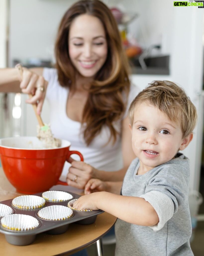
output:
{"label": "woman's ringed hand beside the red bowl's handle", "polygon": [[95,177],[95,173],[98,170],[82,161],[72,161],[71,164],[72,166],[69,168],[69,173],[67,174],[68,185],[84,189],[88,180]]}

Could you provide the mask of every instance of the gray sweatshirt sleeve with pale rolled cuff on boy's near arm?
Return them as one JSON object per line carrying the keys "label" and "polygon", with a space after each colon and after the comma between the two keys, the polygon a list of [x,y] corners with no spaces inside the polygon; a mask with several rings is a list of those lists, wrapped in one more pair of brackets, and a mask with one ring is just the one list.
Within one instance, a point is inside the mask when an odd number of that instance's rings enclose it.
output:
{"label": "gray sweatshirt sleeve with pale rolled cuff on boy's near arm", "polygon": [[147,184],[145,193],[140,196],[157,212],[159,222],[150,227],[154,231],[162,229],[179,206],[188,200],[188,166],[167,164],[157,172]]}

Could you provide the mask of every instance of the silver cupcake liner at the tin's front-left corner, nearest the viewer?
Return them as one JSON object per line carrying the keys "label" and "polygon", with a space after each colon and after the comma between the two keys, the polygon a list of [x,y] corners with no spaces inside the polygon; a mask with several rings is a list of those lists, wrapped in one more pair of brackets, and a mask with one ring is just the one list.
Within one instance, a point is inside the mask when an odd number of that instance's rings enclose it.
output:
{"label": "silver cupcake liner at the tin's front-left corner, nearest the viewer", "polygon": [[1,224],[6,229],[22,231],[36,228],[39,221],[30,215],[12,214],[3,217]]}

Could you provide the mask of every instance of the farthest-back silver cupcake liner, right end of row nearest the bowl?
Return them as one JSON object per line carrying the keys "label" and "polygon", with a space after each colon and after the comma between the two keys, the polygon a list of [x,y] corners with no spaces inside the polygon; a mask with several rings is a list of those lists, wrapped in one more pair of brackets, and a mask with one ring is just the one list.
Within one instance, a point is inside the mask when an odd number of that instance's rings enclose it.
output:
{"label": "farthest-back silver cupcake liner, right end of row nearest the bowl", "polygon": [[55,202],[67,201],[73,198],[73,196],[70,195],[69,193],[64,191],[57,191],[57,190],[45,191],[43,192],[42,197],[45,200],[55,201]]}

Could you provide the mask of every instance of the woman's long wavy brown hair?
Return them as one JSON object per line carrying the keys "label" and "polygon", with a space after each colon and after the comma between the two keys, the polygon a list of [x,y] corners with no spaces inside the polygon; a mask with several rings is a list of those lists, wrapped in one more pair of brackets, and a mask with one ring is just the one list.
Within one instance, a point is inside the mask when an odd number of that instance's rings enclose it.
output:
{"label": "woman's long wavy brown hair", "polygon": [[[77,70],[68,52],[69,28],[81,14],[95,16],[103,23],[108,45],[107,59],[96,73],[83,110],[84,140],[89,145],[103,126],[110,130],[110,139],[116,141],[114,122],[122,118],[130,90],[129,64],[124,54],[121,36],[110,9],[98,0],[82,0],[73,4],[63,16],[55,44],[56,68],[61,86],[74,90]],[[126,100],[125,100],[126,99]]]}

